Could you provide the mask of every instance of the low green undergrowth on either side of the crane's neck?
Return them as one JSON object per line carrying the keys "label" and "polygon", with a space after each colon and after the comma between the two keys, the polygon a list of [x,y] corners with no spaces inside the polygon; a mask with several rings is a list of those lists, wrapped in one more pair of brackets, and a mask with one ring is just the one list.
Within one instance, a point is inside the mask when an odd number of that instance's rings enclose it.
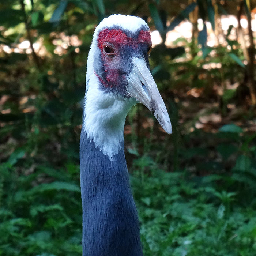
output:
{"label": "low green undergrowth on either side of the crane's neck", "polygon": [[[154,145],[145,143],[148,149],[131,167],[145,256],[255,255],[256,149],[240,132],[227,125],[215,135],[225,137],[227,147],[240,145],[228,157],[222,148],[223,165],[236,155],[230,172],[202,176],[162,170],[150,154]],[[33,172],[28,165],[20,148],[0,167],[0,255],[81,255],[78,164],[45,163]]]}

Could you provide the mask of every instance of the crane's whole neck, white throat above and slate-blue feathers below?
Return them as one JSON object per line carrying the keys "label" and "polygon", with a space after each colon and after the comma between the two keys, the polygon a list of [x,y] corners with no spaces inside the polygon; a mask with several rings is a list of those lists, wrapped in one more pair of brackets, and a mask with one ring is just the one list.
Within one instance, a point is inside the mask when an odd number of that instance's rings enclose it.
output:
{"label": "crane's whole neck, white throat above and slate-blue feathers below", "polygon": [[83,256],[143,256],[124,156],[124,122],[134,101],[88,79],[80,138]]}

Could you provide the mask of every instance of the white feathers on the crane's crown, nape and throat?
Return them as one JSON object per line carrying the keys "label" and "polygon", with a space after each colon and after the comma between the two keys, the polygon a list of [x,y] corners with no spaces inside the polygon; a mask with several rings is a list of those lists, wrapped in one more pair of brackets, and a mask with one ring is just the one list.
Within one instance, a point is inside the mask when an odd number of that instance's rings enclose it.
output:
{"label": "white feathers on the crane's crown, nape and throat", "polygon": [[111,26],[118,26],[121,30],[129,30],[133,33],[140,27],[147,26],[147,23],[135,16],[111,15],[99,23],[93,35],[87,61],[83,129],[87,138],[93,140],[102,153],[110,159],[121,148],[125,117],[131,106],[136,103],[134,99],[104,93],[100,89],[101,82],[94,73],[98,34]]}

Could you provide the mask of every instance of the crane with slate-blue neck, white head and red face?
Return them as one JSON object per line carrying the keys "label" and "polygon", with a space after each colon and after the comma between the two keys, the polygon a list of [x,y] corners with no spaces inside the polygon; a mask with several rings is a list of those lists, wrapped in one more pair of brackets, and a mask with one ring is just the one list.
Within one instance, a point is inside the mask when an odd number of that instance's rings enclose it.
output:
{"label": "crane with slate-blue neck, white head and red face", "polygon": [[172,133],[150,73],[151,48],[149,27],[136,16],[110,15],[93,34],[80,135],[83,256],[143,256],[124,155],[125,117],[141,102]]}

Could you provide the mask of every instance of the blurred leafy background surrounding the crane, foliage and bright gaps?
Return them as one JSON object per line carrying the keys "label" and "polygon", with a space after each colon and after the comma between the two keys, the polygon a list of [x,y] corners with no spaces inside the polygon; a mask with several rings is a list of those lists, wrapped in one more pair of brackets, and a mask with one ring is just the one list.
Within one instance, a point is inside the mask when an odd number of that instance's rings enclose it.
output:
{"label": "blurred leafy background surrounding the crane, foliage and bright gaps", "polygon": [[0,255],[82,255],[87,54],[110,14],[150,26],[173,125],[139,104],[125,154],[145,256],[256,255],[255,0],[0,2]]}

